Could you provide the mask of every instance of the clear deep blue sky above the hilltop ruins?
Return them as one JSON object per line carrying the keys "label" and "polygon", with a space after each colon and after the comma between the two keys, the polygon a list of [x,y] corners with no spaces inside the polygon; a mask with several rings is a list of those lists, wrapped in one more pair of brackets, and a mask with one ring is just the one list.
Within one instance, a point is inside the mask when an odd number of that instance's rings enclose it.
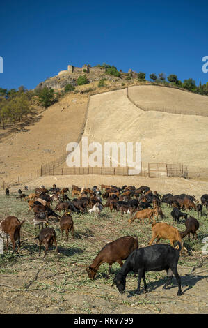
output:
{"label": "clear deep blue sky above the hilltop ruins", "polygon": [[67,64],[208,82],[208,1],[1,1],[0,87],[36,85]]}

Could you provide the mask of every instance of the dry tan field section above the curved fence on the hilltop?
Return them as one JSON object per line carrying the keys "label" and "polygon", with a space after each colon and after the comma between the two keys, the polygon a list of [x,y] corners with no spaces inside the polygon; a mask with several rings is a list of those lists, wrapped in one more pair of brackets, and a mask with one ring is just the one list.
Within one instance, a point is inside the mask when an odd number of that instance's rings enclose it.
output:
{"label": "dry tan field section above the curved fence on the hilltop", "polygon": [[208,117],[208,97],[179,89],[140,85],[128,88],[128,97],[141,109]]}

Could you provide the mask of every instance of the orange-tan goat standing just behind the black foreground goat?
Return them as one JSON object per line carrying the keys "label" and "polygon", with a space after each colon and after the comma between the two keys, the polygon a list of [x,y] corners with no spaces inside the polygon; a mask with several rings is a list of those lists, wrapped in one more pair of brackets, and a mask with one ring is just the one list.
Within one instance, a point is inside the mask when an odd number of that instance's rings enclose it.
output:
{"label": "orange-tan goat standing just behind the black foreground goat", "polygon": [[[149,246],[152,245],[154,239],[157,238],[156,243],[158,244],[160,239],[169,239],[170,245],[174,247],[174,242],[179,241],[182,244],[182,237],[179,234],[177,228],[168,225],[165,222],[152,223],[152,239],[150,240]],[[183,248],[183,246],[182,246]]]}

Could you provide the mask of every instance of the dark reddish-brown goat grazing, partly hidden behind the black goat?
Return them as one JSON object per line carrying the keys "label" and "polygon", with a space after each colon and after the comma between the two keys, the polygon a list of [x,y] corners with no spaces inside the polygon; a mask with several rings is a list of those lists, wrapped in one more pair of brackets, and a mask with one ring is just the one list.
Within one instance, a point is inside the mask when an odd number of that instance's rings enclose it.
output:
{"label": "dark reddish-brown goat grazing, partly hidden behind the black goat", "polygon": [[109,244],[106,244],[102,250],[97,254],[93,263],[86,268],[88,276],[90,279],[95,279],[97,270],[103,263],[109,263],[109,274],[111,274],[112,264],[117,262],[122,267],[122,260],[126,260],[129,254],[138,248],[138,239],[125,236],[121,237]]}

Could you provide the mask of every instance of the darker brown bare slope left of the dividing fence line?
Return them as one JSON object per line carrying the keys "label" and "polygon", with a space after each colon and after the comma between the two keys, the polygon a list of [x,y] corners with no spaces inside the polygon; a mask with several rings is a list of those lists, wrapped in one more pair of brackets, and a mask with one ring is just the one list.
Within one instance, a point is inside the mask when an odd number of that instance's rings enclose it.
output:
{"label": "darker brown bare slope left of the dividing fence line", "polygon": [[[69,94],[42,112],[40,120],[24,132],[1,139],[0,177],[13,181],[29,177],[40,165],[65,153],[68,142],[76,142],[86,114],[88,96]],[[1,182],[1,180],[0,180]]]}

